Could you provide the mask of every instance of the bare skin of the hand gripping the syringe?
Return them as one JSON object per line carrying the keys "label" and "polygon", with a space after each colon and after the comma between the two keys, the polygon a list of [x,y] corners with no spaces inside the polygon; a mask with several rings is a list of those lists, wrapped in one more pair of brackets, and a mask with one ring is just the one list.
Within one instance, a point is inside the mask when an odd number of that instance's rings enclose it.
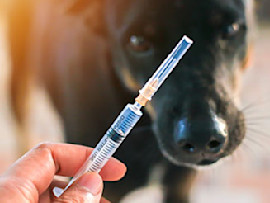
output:
{"label": "bare skin of the hand gripping the syringe", "polygon": [[38,145],[0,176],[0,202],[109,202],[101,197],[103,181],[118,181],[126,173],[126,166],[115,158],[99,174],[84,174],[59,198],[53,195],[55,186],[67,185],[54,176],[72,177],[92,151],[71,144]]}

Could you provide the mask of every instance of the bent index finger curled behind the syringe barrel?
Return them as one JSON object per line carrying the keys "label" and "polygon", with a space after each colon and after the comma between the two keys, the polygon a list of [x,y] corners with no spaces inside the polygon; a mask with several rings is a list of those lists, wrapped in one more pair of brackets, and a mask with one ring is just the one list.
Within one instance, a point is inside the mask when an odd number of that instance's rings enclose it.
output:
{"label": "bent index finger curled behind the syringe barrel", "polygon": [[[42,194],[49,187],[55,174],[73,176],[92,150],[71,144],[41,144],[19,159],[8,171],[7,176],[30,181],[34,185],[31,192]],[[113,171],[109,167],[112,167]],[[101,174],[106,179],[120,179],[125,171],[124,164],[110,159]]]}

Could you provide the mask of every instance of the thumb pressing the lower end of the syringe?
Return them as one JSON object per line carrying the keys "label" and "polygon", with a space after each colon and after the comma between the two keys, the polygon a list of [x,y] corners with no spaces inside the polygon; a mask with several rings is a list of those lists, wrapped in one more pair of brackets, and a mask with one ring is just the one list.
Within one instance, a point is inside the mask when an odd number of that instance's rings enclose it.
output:
{"label": "thumb pressing the lower end of the syringe", "polygon": [[89,172],[84,174],[55,202],[89,202],[99,203],[103,182],[99,174]]}

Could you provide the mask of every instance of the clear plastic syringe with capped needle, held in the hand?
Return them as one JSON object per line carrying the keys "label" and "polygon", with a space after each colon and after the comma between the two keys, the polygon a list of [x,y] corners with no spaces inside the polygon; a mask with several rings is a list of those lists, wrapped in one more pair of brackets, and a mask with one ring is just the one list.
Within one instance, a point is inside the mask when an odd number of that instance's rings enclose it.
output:
{"label": "clear plastic syringe with capped needle, held in the hand", "polygon": [[141,108],[152,99],[154,94],[158,91],[158,88],[173,71],[192,43],[193,41],[187,36],[182,38],[169,56],[159,66],[154,75],[139,91],[139,96],[135,99],[135,103],[128,104],[120,113],[115,122],[97,144],[87,161],[71,179],[68,185],[64,189],[58,187],[54,188],[55,196],[61,196],[74,181],[84,173],[99,172],[101,170],[143,115],[140,111]]}

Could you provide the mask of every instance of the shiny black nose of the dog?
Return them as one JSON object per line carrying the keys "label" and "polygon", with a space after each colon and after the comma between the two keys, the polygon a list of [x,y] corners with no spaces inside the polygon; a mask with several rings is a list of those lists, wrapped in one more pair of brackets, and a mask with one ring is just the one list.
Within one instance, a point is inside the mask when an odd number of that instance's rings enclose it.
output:
{"label": "shiny black nose of the dog", "polygon": [[218,154],[227,140],[225,122],[220,119],[193,120],[183,119],[176,127],[176,144],[188,154],[205,154],[207,158]]}

